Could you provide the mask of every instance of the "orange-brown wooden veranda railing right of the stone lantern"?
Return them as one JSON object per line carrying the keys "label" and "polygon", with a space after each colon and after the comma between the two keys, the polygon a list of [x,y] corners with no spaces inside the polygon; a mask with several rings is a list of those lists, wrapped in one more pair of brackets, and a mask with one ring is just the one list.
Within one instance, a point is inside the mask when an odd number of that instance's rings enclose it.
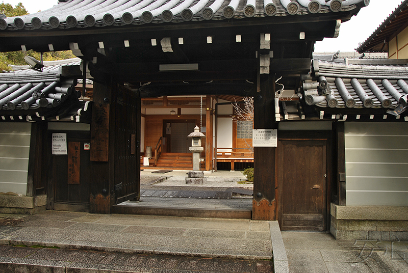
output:
{"label": "orange-brown wooden veranda railing right of the stone lantern", "polygon": [[235,162],[253,162],[253,150],[251,148],[214,148],[215,170],[217,170],[217,160],[231,162],[231,170],[234,170]]}

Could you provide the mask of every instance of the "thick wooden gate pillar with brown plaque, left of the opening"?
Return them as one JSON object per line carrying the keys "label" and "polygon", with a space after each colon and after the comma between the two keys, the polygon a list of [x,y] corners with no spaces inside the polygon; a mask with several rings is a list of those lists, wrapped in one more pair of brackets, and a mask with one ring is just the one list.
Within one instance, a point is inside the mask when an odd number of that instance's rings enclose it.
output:
{"label": "thick wooden gate pillar with brown plaque, left of the opening", "polygon": [[[91,186],[89,211],[111,212],[114,184],[114,109],[112,84],[94,82],[91,123]],[[111,149],[110,149],[111,148]]]}

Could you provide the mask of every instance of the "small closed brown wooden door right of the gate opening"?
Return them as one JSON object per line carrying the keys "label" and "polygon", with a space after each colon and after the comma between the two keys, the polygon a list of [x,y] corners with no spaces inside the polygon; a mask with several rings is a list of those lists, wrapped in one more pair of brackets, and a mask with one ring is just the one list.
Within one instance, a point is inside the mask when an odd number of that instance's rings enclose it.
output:
{"label": "small closed brown wooden door right of the gate opening", "polygon": [[281,140],[278,222],[282,230],[326,229],[326,141]]}

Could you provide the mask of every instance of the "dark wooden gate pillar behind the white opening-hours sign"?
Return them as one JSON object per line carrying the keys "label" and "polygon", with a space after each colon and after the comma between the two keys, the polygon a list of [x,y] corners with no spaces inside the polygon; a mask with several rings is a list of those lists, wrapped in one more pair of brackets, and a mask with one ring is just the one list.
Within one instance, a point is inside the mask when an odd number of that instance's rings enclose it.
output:
{"label": "dark wooden gate pillar behind the white opening-hours sign", "polygon": [[[259,74],[253,128],[275,129],[275,75]],[[275,147],[254,147],[252,219],[276,220]]]}

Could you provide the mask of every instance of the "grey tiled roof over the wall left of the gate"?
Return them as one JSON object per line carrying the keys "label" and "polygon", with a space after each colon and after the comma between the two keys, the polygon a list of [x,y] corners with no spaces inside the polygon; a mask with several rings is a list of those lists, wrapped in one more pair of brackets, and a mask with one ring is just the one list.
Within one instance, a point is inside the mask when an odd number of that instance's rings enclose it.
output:
{"label": "grey tiled roof over the wall left of the gate", "polygon": [[[77,79],[62,77],[59,61],[47,63],[42,72],[20,69],[0,73],[0,122],[15,119],[62,120],[66,117],[80,121],[75,116],[81,116],[89,103],[85,105],[78,100],[81,93],[75,90]],[[79,59],[75,58],[66,65],[79,63]]]}

